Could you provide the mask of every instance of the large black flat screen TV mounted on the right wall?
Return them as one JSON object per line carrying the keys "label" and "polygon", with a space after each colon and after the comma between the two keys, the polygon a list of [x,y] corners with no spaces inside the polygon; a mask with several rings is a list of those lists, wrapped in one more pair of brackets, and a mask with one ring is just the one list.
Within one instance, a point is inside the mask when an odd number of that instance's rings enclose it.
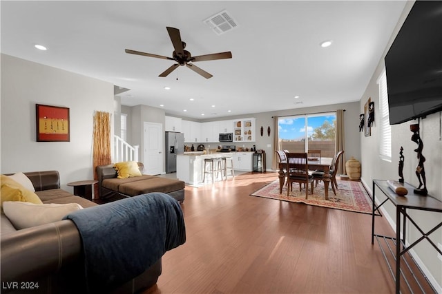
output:
{"label": "large black flat screen TV mounted on the right wall", "polygon": [[442,110],[442,1],[416,1],[385,56],[390,125]]}

